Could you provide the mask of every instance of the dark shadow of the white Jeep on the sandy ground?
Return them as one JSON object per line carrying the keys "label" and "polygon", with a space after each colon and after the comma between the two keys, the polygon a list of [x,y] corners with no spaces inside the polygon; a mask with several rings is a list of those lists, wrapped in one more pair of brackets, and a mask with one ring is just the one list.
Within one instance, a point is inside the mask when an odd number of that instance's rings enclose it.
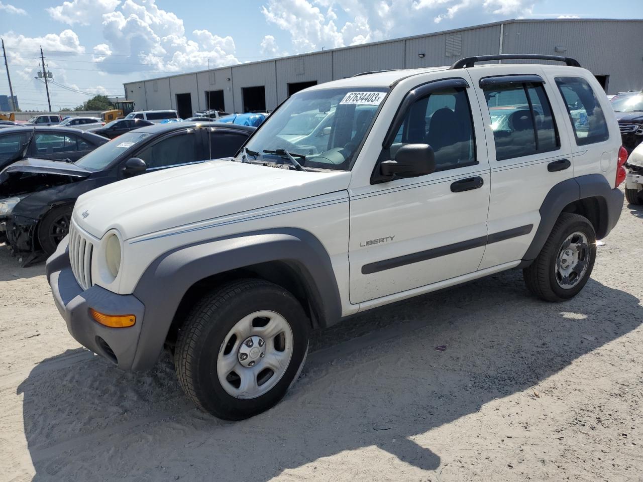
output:
{"label": "dark shadow of the white Jeep on the sandy ground", "polygon": [[[362,447],[365,457],[388,452],[435,470],[443,448],[414,436],[533,387],[642,319],[637,298],[597,281],[571,301],[544,303],[520,272],[498,274],[315,333],[291,393],[236,423],[195,409],[168,355],[146,373],[89,354],[66,368],[45,360],[18,388],[33,480],[264,482]],[[363,463],[355,475],[369,473]]]}

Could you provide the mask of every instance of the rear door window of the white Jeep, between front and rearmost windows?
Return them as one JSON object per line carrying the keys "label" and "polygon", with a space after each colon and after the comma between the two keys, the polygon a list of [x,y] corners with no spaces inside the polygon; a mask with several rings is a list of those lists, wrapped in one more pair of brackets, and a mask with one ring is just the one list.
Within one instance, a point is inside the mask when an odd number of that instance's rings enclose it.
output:
{"label": "rear door window of the white Jeep, between front and rearmost windows", "polygon": [[498,161],[560,147],[556,122],[542,84],[494,84],[483,91]]}

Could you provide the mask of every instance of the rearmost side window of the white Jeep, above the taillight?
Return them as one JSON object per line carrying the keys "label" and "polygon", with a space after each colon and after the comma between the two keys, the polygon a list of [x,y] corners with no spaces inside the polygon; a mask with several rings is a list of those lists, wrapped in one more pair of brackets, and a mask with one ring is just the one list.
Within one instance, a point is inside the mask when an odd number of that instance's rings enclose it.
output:
{"label": "rearmost side window of the white Jeep, above the taillight", "polygon": [[556,77],[556,85],[565,100],[576,144],[583,146],[609,139],[601,104],[590,84],[580,77]]}

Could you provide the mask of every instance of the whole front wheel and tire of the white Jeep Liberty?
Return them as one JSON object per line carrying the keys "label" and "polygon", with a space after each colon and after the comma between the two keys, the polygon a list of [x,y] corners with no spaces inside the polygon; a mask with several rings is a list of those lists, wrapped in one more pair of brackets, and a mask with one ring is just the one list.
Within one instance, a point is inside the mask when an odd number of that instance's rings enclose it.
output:
{"label": "whole front wheel and tire of the white Jeep Liberty", "polygon": [[181,388],[225,420],[257,415],[281,400],[308,352],[309,319],[284,288],[239,280],[206,294],[179,329],[174,362]]}

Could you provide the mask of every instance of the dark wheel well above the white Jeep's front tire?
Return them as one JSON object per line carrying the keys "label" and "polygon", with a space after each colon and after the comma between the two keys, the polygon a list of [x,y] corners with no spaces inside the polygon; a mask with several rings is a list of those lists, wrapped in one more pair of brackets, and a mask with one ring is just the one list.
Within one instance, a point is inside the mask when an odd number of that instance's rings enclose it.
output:
{"label": "dark wheel well above the white Jeep's front tire", "polygon": [[316,296],[306,281],[307,276],[305,272],[295,263],[270,261],[213,274],[212,276],[196,281],[185,292],[177,307],[172,324],[168,330],[167,338],[165,339],[165,344],[174,347],[177,332],[185,321],[186,312],[188,312],[204,294],[224,283],[245,278],[271,281],[271,283],[287,289],[301,303],[304,312],[311,321],[311,328],[318,328],[320,326],[320,310],[316,309],[318,306],[315,299]]}

